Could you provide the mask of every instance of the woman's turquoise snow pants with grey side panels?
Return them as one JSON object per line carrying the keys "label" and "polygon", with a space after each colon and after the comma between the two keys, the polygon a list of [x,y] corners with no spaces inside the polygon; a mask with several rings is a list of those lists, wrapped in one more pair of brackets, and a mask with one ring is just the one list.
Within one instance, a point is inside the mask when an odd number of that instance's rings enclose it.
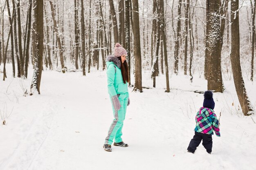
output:
{"label": "woman's turquoise snow pants with grey side panels", "polygon": [[121,104],[121,108],[120,108],[120,110],[117,111],[117,110],[115,110],[115,108],[113,106],[113,100],[112,100],[112,97],[110,96],[113,114],[114,114],[115,119],[113,119],[113,122],[108,130],[108,136],[106,137],[105,144],[111,145],[113,143],[114,138],[115,138],[116,143],[123,141],[121,136],[123,135],[122,128],[124,125],[124,119],[125,119],[125,115],[126,115],[128,98],[129,98],[128,92],[122,93],[119,95],[118,99]]}

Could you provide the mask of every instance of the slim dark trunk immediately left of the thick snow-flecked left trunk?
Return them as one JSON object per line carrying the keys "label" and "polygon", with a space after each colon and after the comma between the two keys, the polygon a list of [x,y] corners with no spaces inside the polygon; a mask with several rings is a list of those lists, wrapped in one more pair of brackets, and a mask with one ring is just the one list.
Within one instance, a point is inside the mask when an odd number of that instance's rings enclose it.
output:
{"label": "slim dark trunk immediately left of the thick snow-flecked left trunk", "polygon": [[[30,30],[31,30],[31,9],[32,9],[32,0],[29,0],[29,12],[28,12],[28,25],[27,25],[27,45],[26,45],[26,53],[25,53],[25,69],[24,74],[27,78],[27,67],[29,62],[29,44],[30,44]],[[25,49],[24,49],[25,50]]]}

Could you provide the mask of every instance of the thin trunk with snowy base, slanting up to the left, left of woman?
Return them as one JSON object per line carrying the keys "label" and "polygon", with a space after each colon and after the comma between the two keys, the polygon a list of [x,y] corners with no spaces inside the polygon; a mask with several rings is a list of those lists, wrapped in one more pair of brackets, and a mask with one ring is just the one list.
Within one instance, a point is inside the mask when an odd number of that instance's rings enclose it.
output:
{"label": "thin trunk with snowy base, slanting up to the left, left of woman", "polygon": [[57,39],[57,42],[58,42],[58,50],[59,50],[59,53],[60,53],[61,70],[62,70],[62,73],[65,73],[66,72],[66,67],[65,67],[65,64],[64,64],[63,49],[61,47],[61,38],[59,36],[58,28],[57,28],[57,23],[56,23],[56,20],[55,20],[54,7],[53,7],[53,4],[52,4],[52,1],[49,1],[49,2],[50,2],[50,5],[51,5],[52,20],[53,20],[53,24],[54,24],[54,30],[56,32],[56,37],[57,37],[56,39]]}

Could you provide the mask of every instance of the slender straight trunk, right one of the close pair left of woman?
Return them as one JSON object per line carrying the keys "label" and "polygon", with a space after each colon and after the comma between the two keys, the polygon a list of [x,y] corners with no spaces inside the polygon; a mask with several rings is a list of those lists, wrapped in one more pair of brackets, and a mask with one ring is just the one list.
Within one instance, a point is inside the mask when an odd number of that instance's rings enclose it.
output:
{"label": "slender straight trunk, right one of the close pair left of woman", "polygon": [[85,76],[85,24],[83,15],[83,0],[81,0],[81,39],[82,39],[82,68]]}

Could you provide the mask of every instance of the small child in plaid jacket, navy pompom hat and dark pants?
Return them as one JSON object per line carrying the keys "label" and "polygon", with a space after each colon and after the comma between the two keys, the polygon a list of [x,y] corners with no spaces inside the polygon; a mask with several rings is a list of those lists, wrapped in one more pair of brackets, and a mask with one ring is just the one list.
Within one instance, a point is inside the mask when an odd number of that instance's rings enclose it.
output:
{"label": "small child in plaid jacket, navy pompom hat and dark pants", "polygon": [[194,153],[196,148],[203,141],[206,151],[211,154],[213,131],[220,137],[219,121],[213,111],[215,102],[212,91],[204,92],[204,103],[195,116],[195,135],[189,143],[188,152]]}

